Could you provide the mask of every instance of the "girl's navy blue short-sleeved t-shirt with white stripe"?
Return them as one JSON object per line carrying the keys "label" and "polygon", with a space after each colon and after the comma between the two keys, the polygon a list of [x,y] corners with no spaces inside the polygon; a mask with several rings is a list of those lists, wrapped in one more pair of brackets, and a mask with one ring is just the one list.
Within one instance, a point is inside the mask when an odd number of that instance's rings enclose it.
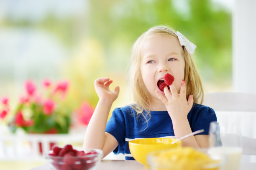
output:
{"label": "girl's navy blue short-sleeved t-shirt with white stripe", "polygon": [[[125,160],[134,160],[128,142],[138,138],[175,138],[172,120],[167,111],[150,111],[151,117],[146,122],[143,115],[136,116],[130,105],[116,108],[107,122],[106,132],[118,141],[115,154],[123,153]],[[147,118],[149,118],[147,116]],[[199,135],[208,135],[210,122],[217,121],[212,108],[194,103],[187,115],[192,132],[204,129]]]}

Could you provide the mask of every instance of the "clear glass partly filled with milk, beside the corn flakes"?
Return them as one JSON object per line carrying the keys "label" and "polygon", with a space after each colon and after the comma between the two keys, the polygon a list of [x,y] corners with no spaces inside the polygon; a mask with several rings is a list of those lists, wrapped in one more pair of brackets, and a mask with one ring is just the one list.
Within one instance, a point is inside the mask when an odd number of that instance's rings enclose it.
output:
{"label": "clear glass partly filled with milk, beside the corn flakes", "polygon": [[239,170],[242,155],[242,136],[238,122],[211,122],[208,150],[210,155],[225,157],[224,170]]}

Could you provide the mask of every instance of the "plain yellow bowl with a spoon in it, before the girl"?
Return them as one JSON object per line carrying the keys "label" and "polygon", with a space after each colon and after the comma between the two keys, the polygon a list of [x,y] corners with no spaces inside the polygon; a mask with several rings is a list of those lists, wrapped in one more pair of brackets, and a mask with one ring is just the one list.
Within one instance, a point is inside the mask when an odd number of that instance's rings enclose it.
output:
{"label": "plain yellow bowl with a spoon in it, before the girl", "polygon": [[129,142],[129,149],[133,158],[139,163],[148,167],[147,155],[153,151],[170,148],[181,148],[182,141],[172,144],[177,139],[172,138],[145,138],[136,139]]}

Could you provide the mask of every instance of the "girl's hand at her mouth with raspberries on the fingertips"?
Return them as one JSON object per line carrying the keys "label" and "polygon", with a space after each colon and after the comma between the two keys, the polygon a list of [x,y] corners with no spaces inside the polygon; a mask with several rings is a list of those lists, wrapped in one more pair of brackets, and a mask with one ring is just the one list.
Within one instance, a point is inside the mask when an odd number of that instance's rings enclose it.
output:
{"label": "girl's hand at her mouth with raspberries on the fingertips", "polygon": [[178,94],[174,83],[170,85],[170,90],[171,92],[166,86],[164,87],[164,95],[156,91],[156,96],[165,104],[172,121],[187,119],[187,114],[194,102],[193,95],[189,95],[187,100],[184,80],[181,81],[180,94]]}

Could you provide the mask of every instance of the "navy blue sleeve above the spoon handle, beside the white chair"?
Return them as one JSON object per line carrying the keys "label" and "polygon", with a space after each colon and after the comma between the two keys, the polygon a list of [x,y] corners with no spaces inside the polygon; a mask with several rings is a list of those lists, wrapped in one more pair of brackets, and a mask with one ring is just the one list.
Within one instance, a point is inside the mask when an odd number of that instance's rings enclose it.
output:
{"label": "navy blue sleeve above the spoon handle, beside the white chair", "polygon": [[191,127],[192,132],[200,129],[205,131],[197,135],[209,135],[210,122],[217,121],[214,110],[210,107],[202,107],[198,110],[195,124]]}

